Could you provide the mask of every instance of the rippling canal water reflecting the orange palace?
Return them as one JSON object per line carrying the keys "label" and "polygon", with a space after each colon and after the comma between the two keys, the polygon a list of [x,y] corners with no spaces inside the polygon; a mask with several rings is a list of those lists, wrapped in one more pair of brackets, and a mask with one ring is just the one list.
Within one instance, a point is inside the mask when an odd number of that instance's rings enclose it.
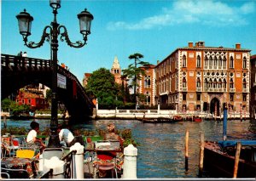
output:
{"label": "rippling canal water reflecting the orange palace", "polygon": [[[49,127],[49,120],[36,121],[40,123],[40,129]],[[8,127],[29,129],[30,122],[8,120]],[[131,128],[133,138],[140,144],[137,147],[137,178],[198,178],[200,134],[204,133],[205,140],[223,139],[223,122],[220,121],[143,123],[137,120],[97,120],[73,127],[105,129],[108,122],[114,122],[117,129]],[[228,121],[227,127],[227,139],[256,139],[255,120]],[[186,130],[189,131],[188,171],[185,170],[184,156]]]}

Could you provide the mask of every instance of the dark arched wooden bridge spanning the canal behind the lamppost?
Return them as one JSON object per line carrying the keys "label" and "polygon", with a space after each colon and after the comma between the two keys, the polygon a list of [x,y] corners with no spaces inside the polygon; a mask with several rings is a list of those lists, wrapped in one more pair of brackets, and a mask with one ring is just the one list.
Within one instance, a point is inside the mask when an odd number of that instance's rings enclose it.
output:
{"label": "dark arched wooden bridge spanning the canal behind the lamppost", "polygon": [[[32,83],[52,87],[52,61],[1,54],[1,99]],[[67,77],[66,88],[57,88],[58,99],[66,106],[75,122],[84,122],[92,116],[95,105],[86,95],[76,76],[58,65],[59,74]]]}

